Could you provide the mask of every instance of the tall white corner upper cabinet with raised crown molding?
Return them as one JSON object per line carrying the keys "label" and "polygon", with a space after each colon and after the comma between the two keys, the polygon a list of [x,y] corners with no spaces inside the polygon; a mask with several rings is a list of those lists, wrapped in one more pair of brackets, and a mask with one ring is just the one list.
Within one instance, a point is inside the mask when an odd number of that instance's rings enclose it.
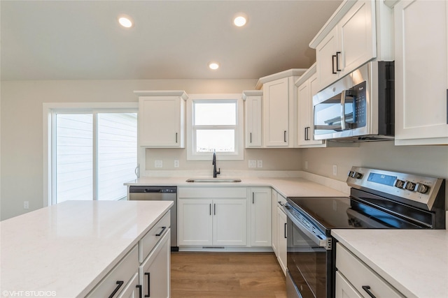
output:
{"label": "tall white corner upper cabinet with raised crown molding", "polygon": [[297,147],[297,88],[306,69],[297,68],[262,77],[262,143],[265,148]]}

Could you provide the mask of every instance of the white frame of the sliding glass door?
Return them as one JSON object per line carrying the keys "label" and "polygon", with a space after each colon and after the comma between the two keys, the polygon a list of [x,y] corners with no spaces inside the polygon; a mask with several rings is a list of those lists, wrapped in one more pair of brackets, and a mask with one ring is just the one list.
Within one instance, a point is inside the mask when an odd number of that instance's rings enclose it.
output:
{"label": "white frame of the sliding glass door", "polygon": [[[101,114],[101,113],[137,113],[139,117],[138,103],[43,103],[43,207],[57,204],[56,202],[56,135],[53,133],[56,128],[56,114]],[[96,126],[96,116],[94,116],[94,126]],[[138,135],[138,125],[137,125]],[[94,133],[93,144],[96,148],[96,133]],[[141,161],[142,153],[139,148],[139,138],[137,137],[137,167]],[[97,164],[94,155],[94,164]],[[93,175],[96,177],[97,168],[94,167]],[[94,181],[96,182],[95,178]],[[97,193],[97,186],[93,186]],[[97,200],[94,197],[93,200]]]}

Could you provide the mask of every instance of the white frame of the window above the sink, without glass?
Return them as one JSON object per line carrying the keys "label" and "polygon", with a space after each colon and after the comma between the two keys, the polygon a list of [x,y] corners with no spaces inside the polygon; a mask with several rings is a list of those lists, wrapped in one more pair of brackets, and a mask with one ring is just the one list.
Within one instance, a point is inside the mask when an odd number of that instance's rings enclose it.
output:
{"label": "white frame of the window above the sink, without glass", "polygon": [[[194,103],[223,103],[226,100],[236,102],[236,123],[235,126],[218,125],[218,126],[195,126],[194,121]],[[223,161],[242,161],[244,160],[244,112],[243,100],[241,94],[190,94],[187,100],[187,160],[188,161],[210,161],[212,152],[196,151],[196,129],[197,128],[231,128],[235,127],[235,152],[217,152],[218,159]]]}

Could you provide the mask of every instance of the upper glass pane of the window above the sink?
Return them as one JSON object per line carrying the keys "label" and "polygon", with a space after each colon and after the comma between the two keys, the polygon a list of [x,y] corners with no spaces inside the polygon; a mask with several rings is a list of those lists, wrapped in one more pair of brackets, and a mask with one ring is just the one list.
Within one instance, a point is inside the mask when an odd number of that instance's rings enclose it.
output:
{"label": "upper glass pane of the window above the sink", "polygon": [[236,125],[237,103],[195,102],[194,125]]}

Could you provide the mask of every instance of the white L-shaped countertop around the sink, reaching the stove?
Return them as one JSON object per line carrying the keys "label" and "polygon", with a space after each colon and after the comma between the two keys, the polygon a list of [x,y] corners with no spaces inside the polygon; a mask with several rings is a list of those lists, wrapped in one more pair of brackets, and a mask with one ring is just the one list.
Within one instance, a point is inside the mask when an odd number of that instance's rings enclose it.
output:
{"label": "white L-shaped countertop around the sink, reaching the stove", "polygon": [[[197,178],[197,177],[193,177]],[[224,177],[223,177],[224,178]],[[186,182],[187,177],[141,177],[125,183],[127,186],[244,186],[274,188],[283,197],[347,197],[347,193],[300,177],[241,177],[241,182]],[[329,179],[330,180],[330,179]],[[345,184],[345,182],[340,182]]]}

